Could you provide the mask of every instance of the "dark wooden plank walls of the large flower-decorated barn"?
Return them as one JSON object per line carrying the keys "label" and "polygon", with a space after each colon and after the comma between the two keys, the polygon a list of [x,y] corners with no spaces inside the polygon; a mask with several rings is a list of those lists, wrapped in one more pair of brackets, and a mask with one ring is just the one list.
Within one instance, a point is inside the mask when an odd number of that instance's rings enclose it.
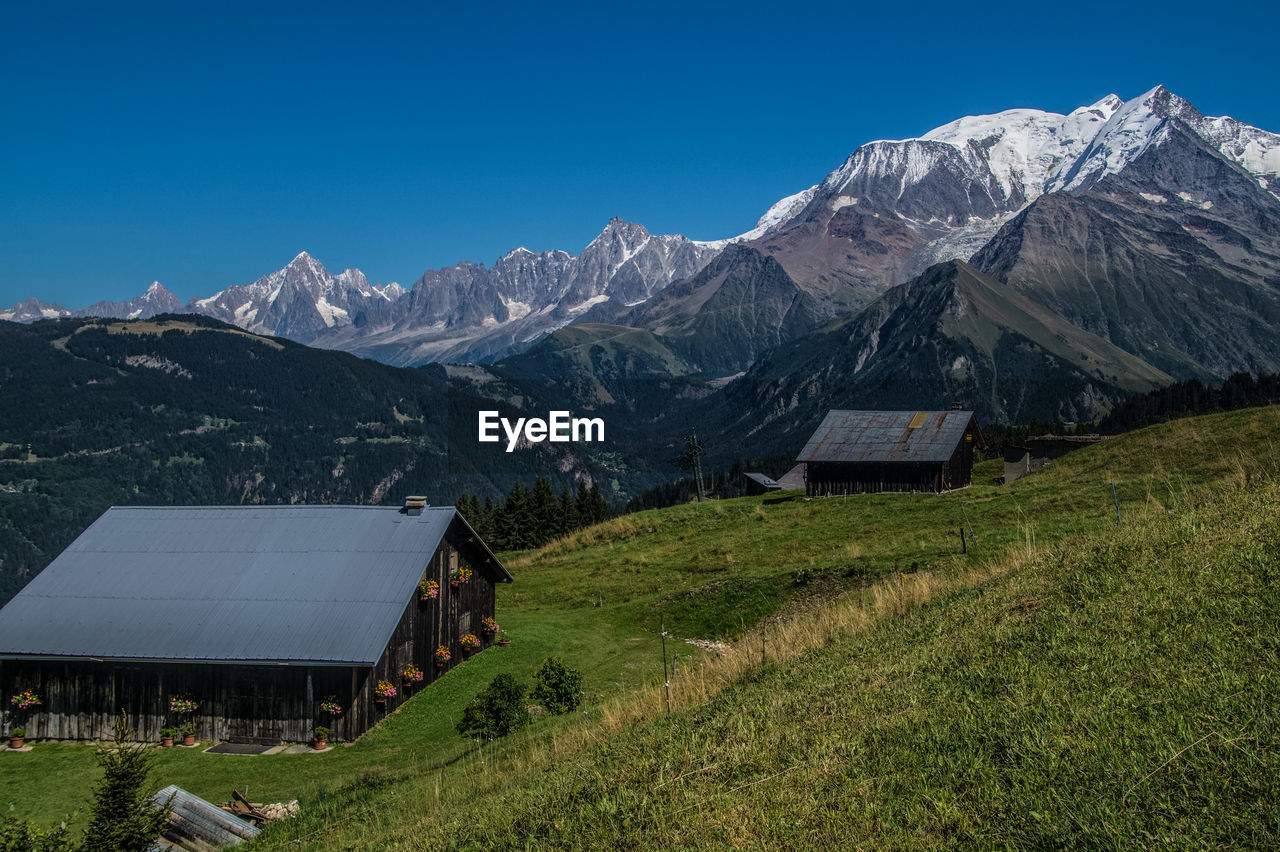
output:
{"label": "dark wooden plank walls of the large flower-decorated barn", "polygon": [[[353,739],[410,697],[401,677],[404,667],[422,669],[422,690],[465,659],[458,645],[463,633],[485,638],[480,622],[494,614],[494,585],[470,564],[471,581],[457,590],[449,586],[452,567],[468,564],[460,546],[471,550],[451,530],[424,569],[425,578],[440,583],[440,596],[422,603],[413,594],[374,668],[4,660],[4,730],[22,724],[33,739],[109,738],[115,714],[124,709],[138,737],[156,739],[161,728],[184,722],[169,713],[169,698],[189,695],[200,706],[195,722],[201,739],[305,742],[317,724],[328,727],[333,739]],[[445,669],[433,664],[438,645],[453,654]],[[375,702],[379,679],[394,683],[399,695]],[[8,696],[22,690],[35,690],[44,704],[15,715]],[[321,716],[320,701],[328,696],[342,704],[342,716]]]}

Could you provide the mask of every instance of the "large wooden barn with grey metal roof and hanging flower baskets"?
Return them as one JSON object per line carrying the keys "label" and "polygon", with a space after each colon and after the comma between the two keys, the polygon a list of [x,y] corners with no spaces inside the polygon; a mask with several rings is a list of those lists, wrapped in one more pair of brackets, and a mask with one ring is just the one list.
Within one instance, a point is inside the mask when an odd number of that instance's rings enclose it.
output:
{"label": "large wooden barn with grey metal roof and hanging flower baskets", "polygon": [[[463,636],[489,642],[511,582],[453,507],[424,504],[109,509],[0,610],[5,730],[109,738],[124,709],[143,738],[358,737],[466,659]],[[27,690],[41,704],[15,709]]]}

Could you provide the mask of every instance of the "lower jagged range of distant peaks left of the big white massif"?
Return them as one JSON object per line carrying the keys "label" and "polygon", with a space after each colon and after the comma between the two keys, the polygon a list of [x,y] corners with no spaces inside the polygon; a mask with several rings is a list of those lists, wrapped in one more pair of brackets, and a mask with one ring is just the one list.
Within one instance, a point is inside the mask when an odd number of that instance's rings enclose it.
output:
{"label": "lower jagged range of distant peaks left of the big white massif", "polygon": [[492,267],[462,262],[428,270],[411,289],[394,283],[374,285],[357,269],[334,275],[301,252],[284,269],[186,306],[156,283],[129,302],[99,302],[67,311],[28,299],[0,312],[0,319],[145,319],[187,311],[257,334],[346,349],[389,363],[486,361],[520,349],[593,308],[620,315],[672,281],[698,272],[722,244],[650,234],[644,225],[616,217],[580,255],[521,247]]}

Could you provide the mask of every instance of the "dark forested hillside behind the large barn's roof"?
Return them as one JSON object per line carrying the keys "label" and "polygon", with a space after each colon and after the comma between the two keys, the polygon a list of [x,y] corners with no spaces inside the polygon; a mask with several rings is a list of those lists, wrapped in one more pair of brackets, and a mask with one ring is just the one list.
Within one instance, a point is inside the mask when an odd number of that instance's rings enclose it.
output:
{"label": "dark forested hillside behind the large barn's roof", "polygon": [[0,322],[0,601],[113,504],[453,503],[599,471],[564,445],[479,445],[451,403],[509,407],[451,394],[442,367],[216,320]]}

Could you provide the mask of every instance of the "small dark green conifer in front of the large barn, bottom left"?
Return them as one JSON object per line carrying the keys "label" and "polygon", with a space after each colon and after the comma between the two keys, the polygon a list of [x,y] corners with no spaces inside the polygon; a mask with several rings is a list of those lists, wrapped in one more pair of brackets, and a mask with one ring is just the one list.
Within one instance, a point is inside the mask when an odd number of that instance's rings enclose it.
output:
{"label": "small dark green conifer in front of the large barn, bottom left", "polygon": [[146,852],[160,837],[172,805],[156,806],[146,793],[155,752],[133,739],[124,710],[115,737],[97,748],[102,780],[93,788],[93,809],[84,832],[86,852]]}

